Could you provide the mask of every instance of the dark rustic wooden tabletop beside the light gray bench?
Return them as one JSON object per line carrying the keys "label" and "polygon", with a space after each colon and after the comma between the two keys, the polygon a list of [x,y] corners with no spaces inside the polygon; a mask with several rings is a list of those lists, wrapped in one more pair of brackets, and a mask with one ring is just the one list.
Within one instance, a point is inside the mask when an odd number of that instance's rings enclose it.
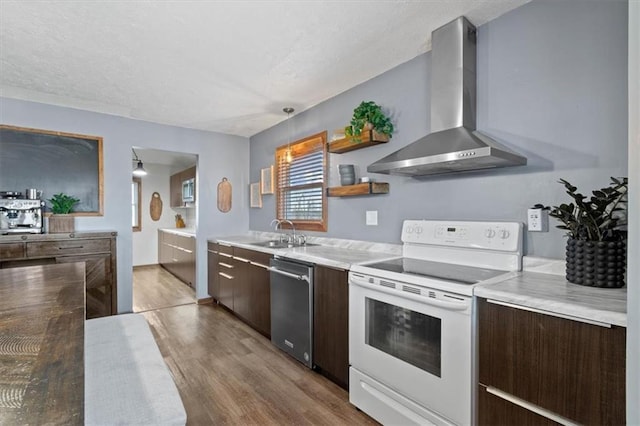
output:
{"label": "dark rustic wooden tabletop beside the light gray bench", "polygon": [[84,263],[0,269],[0,424],[83,424],[84,277]]}

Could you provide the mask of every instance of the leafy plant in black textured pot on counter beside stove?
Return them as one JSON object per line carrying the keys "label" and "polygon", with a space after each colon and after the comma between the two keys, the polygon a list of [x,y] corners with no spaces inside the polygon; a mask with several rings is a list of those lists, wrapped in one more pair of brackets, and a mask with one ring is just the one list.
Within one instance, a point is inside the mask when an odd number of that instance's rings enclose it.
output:
{"label": "leafy plant in black textured pot on counter beside stove", "polygon": [[593,287],[619,288],[625,285],[627,246],[628,179],[611,178],[605,188],[587,198],[564,179],[560,183],[573,199],[550,209],[559,220],[557,228],[567,231],[567,281]]}

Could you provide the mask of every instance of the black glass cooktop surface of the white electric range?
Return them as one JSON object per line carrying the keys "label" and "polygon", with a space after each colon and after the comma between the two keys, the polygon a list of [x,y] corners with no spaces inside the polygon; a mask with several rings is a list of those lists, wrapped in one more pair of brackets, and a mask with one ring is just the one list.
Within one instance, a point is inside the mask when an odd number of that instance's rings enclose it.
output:
{"label": "black glass cooktop surface of the white electric range", "polygon": [[454,265],[452,263],[432,262],[429,260],[401,257],[384,262],[362,265],[366,268],[380,269],[398,274],[417,275],[456,284],[476,284],[502,275],[507,271],[477,268],[474,266]]}

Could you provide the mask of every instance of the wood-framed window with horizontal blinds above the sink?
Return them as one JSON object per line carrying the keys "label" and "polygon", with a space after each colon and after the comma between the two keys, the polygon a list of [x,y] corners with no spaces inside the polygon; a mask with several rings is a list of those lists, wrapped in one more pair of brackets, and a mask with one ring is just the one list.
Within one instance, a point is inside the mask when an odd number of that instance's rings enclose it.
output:
{"label": "wood-framed window with horizontal blinds above the sink", "polygon": [[276,217],[296,229],[327,230],[326,140],[325,131],[276,149]]}

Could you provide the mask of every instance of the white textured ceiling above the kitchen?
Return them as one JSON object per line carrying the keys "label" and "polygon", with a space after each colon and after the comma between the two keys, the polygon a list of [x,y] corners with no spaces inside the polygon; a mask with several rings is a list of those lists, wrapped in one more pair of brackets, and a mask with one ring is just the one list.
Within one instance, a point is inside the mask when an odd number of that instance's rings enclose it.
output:
{"label": "white textured ceiling above the kitchen", "polygon": [[0,0],[0,96],[252,136],[529,0]]}

